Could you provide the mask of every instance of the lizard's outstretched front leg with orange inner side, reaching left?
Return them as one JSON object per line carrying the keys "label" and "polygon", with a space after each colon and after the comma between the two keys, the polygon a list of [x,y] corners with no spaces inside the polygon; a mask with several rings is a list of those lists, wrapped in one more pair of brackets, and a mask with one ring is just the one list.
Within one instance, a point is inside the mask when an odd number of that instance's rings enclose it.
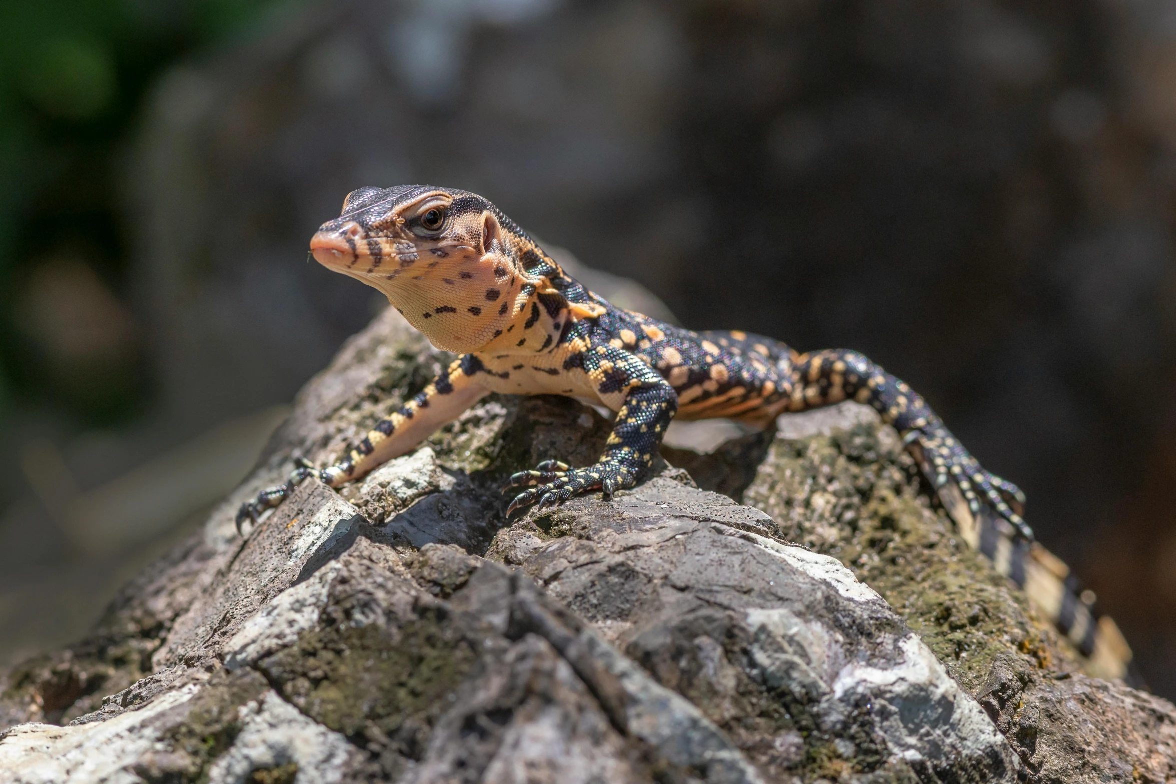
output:
{"label": "lizard's outstretched front leg with orange inner side, reaching left", "polygon": [[340,462],[315,469],[309,463],[299,461],[298,468],[290,473],[286,484],[266,488],[253,501],[241,504],[236,512],[238,532],[241,531],[241,524],[246,520],[258,522],[261,512],[285,501],[294,492],[294,488],[309,476],[318,476],[322,482],[336,488],[363,476],[380,463],[407,453],[488,394],[489,390],[475,381],[475,375],[480,370],[481,363],[476,357],[468,354],[461,356],[399,411],[376,422],[363,441]]}

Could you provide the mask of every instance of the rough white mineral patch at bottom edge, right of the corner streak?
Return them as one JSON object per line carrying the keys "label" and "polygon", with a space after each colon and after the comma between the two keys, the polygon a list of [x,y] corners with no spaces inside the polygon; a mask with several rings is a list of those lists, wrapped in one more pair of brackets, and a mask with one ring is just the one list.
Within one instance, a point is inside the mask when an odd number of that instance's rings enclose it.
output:
{"label": "rough white mineral patch at bottom edge, right of the corner streak", "polygon": [[245,784],[255,770],[298,765],[298,784],[335,784],[342,779],[350,744],[339,732],[303,716],[268,691],[260,704],[238,709],[241,732],[208,769],[209,784]]}

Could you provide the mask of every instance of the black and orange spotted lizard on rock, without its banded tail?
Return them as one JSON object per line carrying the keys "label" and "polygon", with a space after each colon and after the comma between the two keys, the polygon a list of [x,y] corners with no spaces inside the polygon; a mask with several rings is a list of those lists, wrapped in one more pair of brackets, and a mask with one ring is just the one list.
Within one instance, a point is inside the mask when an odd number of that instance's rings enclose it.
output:
{"label": "black and orange spotted lizard on rock, without its banded tail", "polygon": [[[459,359],[339,463],[301,462],[286,484],[238,514],[240,530],[308,476],[330,487],[403,455],[492,391],[567,395],[616,413],[600,460],[549,460],[510,477],[521,491],[507,514],[601,490],[632,488],[675,417],[730,417],[766,427],[784,411],[856,400],[917,449],[937,489],[958,489],[973,514],[994,509],[1023,538],[1016,485],[981,468],[921,396],[847,349],[797,353],[759,335],[691,331],[622,310],[564,273],[486,199],[453,188],[360,188],[310,240],[328,269],[379,289],[439,349]],[[537,503],[536,503],[537,502]]]}

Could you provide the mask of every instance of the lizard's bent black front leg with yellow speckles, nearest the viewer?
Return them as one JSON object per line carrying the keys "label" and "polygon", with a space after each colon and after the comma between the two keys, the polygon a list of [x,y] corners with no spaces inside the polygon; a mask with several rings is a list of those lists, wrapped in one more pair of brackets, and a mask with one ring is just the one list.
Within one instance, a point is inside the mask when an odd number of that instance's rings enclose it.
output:
{"label": "lizard's bent black front leg with yellow speckles, nearest the viewer", "polygon": [[[644,367],[644,366],[642,366]],[[666,428],[677,410],[677,393],[660,376],[630,382],[632,389],[616,411],[613,433],[604,454],[588,468],[569,468],[559,461],[540,463],[536,470],[519,471],[503,491],[527,487],[507,508],[515,509],[539,501],[537,509],[562,503],[572,496],[600,488],[604,498],[616,490],[632,488],[649,469],[661,445]]]}

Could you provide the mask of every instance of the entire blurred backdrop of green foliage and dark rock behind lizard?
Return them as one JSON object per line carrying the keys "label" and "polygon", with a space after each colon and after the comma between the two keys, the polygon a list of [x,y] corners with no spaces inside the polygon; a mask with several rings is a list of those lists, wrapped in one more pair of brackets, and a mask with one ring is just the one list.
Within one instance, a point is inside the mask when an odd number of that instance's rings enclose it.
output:
{"label": "entire blurred backdrop of green foliage and dark rock behind lizard", "polygon": [[0,663],[82,634],[475,190],[695,328],[851,347],[1029,495],[1176,697],[1176,2],[0,5]]}

